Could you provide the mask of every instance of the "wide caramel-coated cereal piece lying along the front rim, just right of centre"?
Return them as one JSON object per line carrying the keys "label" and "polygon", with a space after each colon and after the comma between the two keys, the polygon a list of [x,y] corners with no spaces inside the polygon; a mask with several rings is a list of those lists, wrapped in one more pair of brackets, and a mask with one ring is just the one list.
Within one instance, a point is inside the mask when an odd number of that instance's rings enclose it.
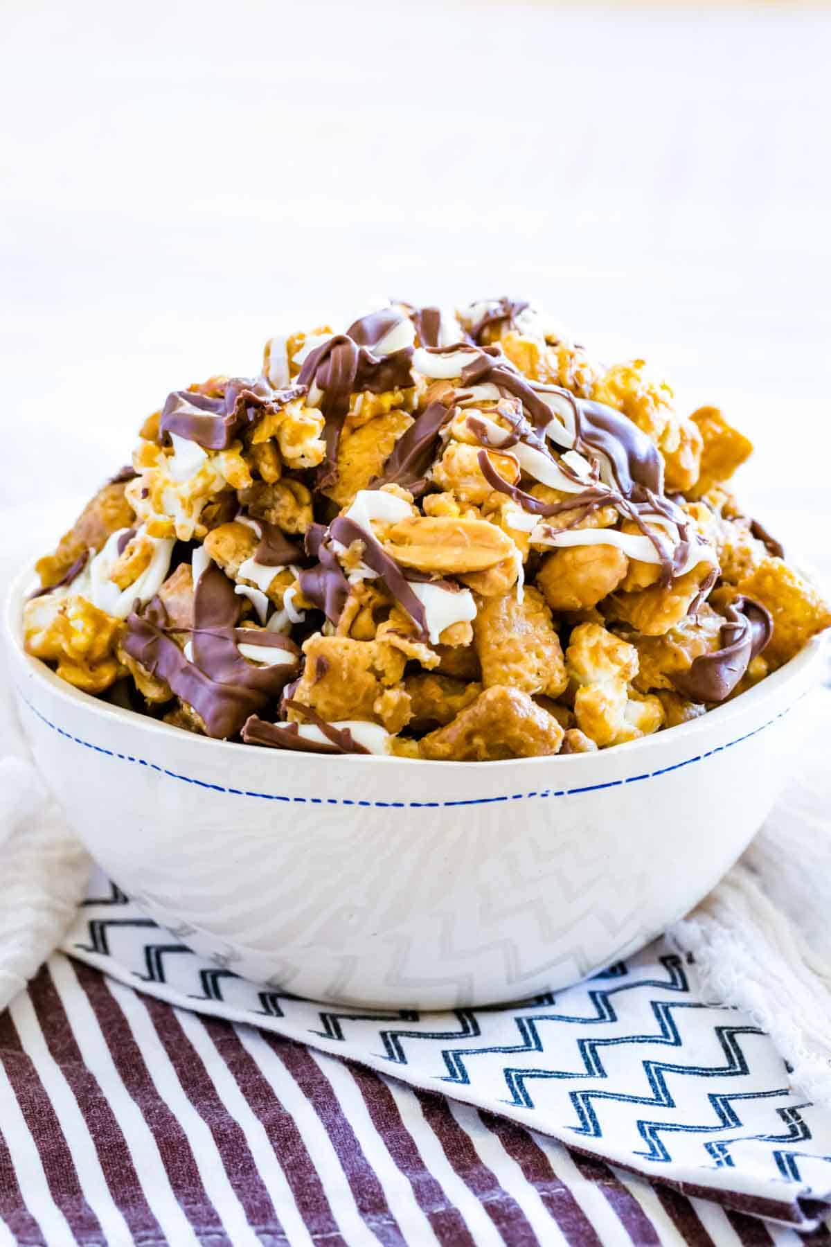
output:
{"label": "wide caramel-coated cereal piece lying along the front rim, just right of centre", "polygon": [[527,693],[493,685],[445,727],[421,741],[421,757],[445,762],[493,762],[557,753],[563,729]]}

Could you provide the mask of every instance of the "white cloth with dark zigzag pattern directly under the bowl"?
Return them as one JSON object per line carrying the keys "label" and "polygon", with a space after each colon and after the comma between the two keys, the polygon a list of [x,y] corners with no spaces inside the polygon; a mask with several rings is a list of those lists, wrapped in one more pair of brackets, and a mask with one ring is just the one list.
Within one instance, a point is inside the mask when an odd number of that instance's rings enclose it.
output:
{"label": "white cloth with dark zigzag pattern directly under the bowl", "polygon": [[800,1230],[831,1206],[831,1114],[791,1091],[745,1015],[701,999],[695,966],[665,941],[512,1006],[333,1010],[201,959],[98,875],[64,949],[179,1009],[360,1062],[688,1196]]}

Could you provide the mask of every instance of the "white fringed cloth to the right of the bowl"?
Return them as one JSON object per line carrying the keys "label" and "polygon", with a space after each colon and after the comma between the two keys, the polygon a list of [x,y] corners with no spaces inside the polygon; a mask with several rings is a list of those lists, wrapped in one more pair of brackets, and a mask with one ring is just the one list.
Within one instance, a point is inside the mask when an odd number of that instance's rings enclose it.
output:
{"label": "white fringed cloth to the right of the bowl", "polygon": [[774,813],[725,879],[668,932],[701,990],[750,1014],[794,1087],[831,1107],[831,691],[795,723],[799,764]]}

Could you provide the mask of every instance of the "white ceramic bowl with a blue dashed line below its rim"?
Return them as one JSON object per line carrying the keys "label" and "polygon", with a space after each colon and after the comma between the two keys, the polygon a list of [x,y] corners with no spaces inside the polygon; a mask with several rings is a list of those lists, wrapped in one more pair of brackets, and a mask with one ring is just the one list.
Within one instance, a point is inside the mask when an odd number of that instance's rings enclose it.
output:
{"label": "white ceramic bowl with a blue dashed line below its rim", "polygon": [[218,964],[303,996],[447,1009],[623,958],[735,862],[789,768],[821,641],[703,718],[594,754],[319,757],[209,741],[77,692],[6,631],[37,764],[93,857]]}

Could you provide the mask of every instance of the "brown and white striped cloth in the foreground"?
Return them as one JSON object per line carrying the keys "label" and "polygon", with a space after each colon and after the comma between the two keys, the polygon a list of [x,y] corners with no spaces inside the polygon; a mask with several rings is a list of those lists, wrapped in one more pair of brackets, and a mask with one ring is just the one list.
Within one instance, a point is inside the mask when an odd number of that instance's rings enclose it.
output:
{"label": "brown and white striped cloth in the foreground", "polygon": [[[130,922],[132,913],[107,890],[85,907],[86,930],[78,925],[75,934],[88,943],[92,924],[110,922],[115,936],[118,917]],[[120,940],[128,929],[121,929]],[[166,939],[151,928],[143,935],[148,950]],[[118,949],[126,951],[122,943]],[[441,1082],[434,1090],[407,1086],[400,1062],[370,1069],[338,1060],[320,1038],[309,1045],[283,1038],[277,1016],[259,1013],[257,1025],[232,1023],[196,1013],[194,1004],[204,1010],[207,1003],[187,995],[186,1004],[171,1005],[158,999],[173,990],[169,984],[140,976],[159,960],[172,965],[188,956],[158,948],[148,959],[142,953],[138,975],[120,968],[136,990],[56,953],[0,1014],[2,1247],[831,1242],[820,1223],[825,1208],[804,1192],[797,1198],[792,1178],[782,1175],[772,1198],[731,1193],[730,1147],[716,1165],[728,1180],[708,1198],[653,1185],[588,1155],[594,1145],[586,1139],[572,1136],[576,1146],[567,1147],[518,1125],[503,1115],[505,1102],[496,1102],[496,1111],[477,1110],[442,1094]],[[211,974],[216,968],[201,969]],[[610,991],[614,983],[596,980],[588,990]],[[564,994],[559,1004],[569,1001],[577,1004]],[[693,1000],[683,1004],[696,1009]],[[219,1008],[214,999],[209,1011]],[[518,1013],[527,1016],[528,1009]],[[329,1020],[334,1033],[335,1020]],[[741,1029],[735,1015],[721,1020]],[[483,1013],[478,1021],[487,1025]],[[653,1029],[655,1021],[653,1015]],[[395,1029],[405,1049],[429,1042],[406,1039],[401,1031],[417,1031],[419,1023],[399,1020],[397,1028],[385,1024],[392,1046]],[[739,1042],[751,1059],[761,1046],[748,1034]],[[664,1077],[675,1090],[689,1077],[669,1074],[680,1055],[664,1054]],[[374,1064],[380,1064],[376,1057]],[[726,1102],[723,1091],[716,1094]],[[740,1095],[733,1101],[744,1111],[749,1101]],[[774,1116],[774,1132],[790,1136],[787,1153],[819,1176],[824,1163],[812,1158],[819,1137],[804,1135],[797,1142],[791,1130],[805,1115],[791,1107]],[[801,1231],[819,1227],[802,1238],[749,1212],[792,1218]]]}

